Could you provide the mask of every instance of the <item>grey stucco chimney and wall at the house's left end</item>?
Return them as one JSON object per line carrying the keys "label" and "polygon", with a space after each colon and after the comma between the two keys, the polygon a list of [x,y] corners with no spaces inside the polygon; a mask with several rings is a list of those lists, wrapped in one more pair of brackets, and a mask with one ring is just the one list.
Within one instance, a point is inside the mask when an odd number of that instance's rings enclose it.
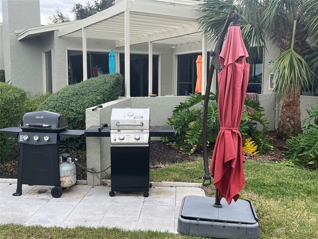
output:
{"label": "grey stucco chimney and wall at the house's left end", "polygon": [[41,38],[18,42],[14,33],[41,25],[39,0],[2,0],[1,4],[5,80],[33,93],[42,92]]}

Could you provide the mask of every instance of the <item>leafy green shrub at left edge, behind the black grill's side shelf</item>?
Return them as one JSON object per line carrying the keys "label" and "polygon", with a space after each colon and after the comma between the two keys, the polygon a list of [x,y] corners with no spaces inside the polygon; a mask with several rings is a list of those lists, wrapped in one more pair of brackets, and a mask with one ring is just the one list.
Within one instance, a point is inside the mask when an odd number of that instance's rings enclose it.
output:
{"label": "leafy green shrub at left edge, behind the black grill's side shelf", "polygon": [[[21,124],[25,113],[26,97],[24,90],[0,82],[0,128],[17,127]],[[16,143],[16,138],[0,134],[1,160],[12,155]]]}

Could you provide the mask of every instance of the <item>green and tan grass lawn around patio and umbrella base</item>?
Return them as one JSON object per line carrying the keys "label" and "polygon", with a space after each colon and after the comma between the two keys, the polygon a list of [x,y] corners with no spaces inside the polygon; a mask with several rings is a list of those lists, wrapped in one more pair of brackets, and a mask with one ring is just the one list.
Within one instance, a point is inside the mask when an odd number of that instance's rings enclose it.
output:
{"label": "green and tan grass lawn around patio and umbrella base", "polygon": [[[278,163],[247,161],[246,185],[241,198],[250,200],[259,217],[262,239],[318,238],[318,171],[288,167]],[[203,161],[169,164],[152,169],[151,181],[201,182]],[[205,188],[213,196],[214,188]],[[158,232],[124,232],[118,229],[61,229],[1,225],[0,238],[132,238],[194,239]]]}

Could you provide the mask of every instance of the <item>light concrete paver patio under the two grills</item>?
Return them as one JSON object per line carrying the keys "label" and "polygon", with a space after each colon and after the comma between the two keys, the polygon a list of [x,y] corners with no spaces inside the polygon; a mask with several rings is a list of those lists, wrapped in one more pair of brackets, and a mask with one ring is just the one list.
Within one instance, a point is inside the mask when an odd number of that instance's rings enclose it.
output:
{"label": "light concrete paver patio under the two grills", "polygon": [[65,190],[61,198],[53,198],[51,189],[52,186],[23,185],[22,195],[14,197],[16,184],[0,183],[0,224],[177,233],[182,198],[205,196],[198,187],[153,187],[148,198],[142,192],[118,192],[110,197],[110,187],[76,185]]}

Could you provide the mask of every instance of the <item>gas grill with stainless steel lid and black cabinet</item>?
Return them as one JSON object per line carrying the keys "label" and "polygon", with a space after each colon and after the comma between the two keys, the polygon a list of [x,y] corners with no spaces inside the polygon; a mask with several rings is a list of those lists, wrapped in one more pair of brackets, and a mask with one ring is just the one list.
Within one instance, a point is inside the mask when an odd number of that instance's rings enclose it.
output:
{"label": "gas grill with stainless steel lid and black cabinet", "polygon": [[144,192],[149,196],[150,137],[174,136],[171,125],[150,126],[150,108],[113,109],[110,127],[91,126],[86,137],[110,136],[111,191]]}

